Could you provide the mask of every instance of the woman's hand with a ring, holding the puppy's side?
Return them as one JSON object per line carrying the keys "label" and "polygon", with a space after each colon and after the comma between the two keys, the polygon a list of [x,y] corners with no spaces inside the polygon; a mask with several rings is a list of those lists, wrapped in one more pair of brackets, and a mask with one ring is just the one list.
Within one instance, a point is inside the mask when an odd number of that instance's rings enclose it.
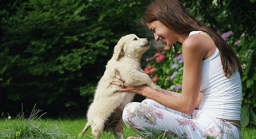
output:
{"label": "woman's hand with a ring, holding the puppy's side", "polygon": [[[118,69],[115,69],[115,70],[116,70],[116,72],[119,73]],[[135,93],[135,94],[143,95],[144,96],[145,92],[149,92],[149,91],[152,92],[154,90],[153,88],[150,88],[149,86],[145,86],[145,85],[144,86],[132,86],[132,85],[130,85],[128,83],[125,83],[126,81],[124,81],[120,75],[116,75],[115,77],[117,79],[119,79],[122,83],[115,82],[115,81],[112,81],[111,83],[116,85],[116,86],[120,86],[122,88],[119,89],[119,90],[116,90],[114,93],[130,92],[130,93]]]}

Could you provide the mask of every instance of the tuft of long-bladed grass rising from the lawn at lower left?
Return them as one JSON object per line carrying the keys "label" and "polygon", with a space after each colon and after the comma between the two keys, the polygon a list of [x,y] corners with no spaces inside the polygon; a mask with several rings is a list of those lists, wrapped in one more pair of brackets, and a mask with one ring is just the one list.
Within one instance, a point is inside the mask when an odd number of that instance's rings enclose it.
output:
{"label": "tuft of long-bladed grass rising from the lawn at lower left", "polygon": [[51,120],[42,122],[40,117],[44,113],[39,116],[39,112],[41,111],[33,109],[29,117],[21,112],[16,119],[5,120],[5,124],[1,122],[0,139],[68,139],[71,137],[65,132],[65,126],[55,125]]}

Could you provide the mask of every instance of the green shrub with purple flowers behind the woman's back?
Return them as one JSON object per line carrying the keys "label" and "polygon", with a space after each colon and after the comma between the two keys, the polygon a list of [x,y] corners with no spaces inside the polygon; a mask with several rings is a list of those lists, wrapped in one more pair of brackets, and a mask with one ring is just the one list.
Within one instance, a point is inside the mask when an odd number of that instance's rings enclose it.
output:
{"label": "green shrub with purple flowers behind the woman's back", "polygon": [[[224,35],[223,35],[224,34]],[[242,113],[241,125],[247,126],[251,124],[256,126],[256,64],[255,64],[255,37],[249,36],[246,33],[233,34],[231,31],[223,33],[222,38],[232,46],[237,56],[242,62]],[[240,35],[240,36],[239,36]],[[223,39],[224,39],[223,38]]]}

